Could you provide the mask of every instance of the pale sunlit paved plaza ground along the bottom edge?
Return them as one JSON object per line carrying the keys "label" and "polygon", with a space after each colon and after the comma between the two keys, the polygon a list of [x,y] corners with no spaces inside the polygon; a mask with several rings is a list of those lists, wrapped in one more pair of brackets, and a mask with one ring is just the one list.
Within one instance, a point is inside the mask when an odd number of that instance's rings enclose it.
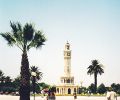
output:
{"label": "pale sunlit paved plaza ground along the bottom edge", "polygon": [[[0,100],[19,100],[19,96],[10,96],[10,95],[0,95]],[[34,100],[31,97],[30,100]],[[42,98],[41,96],[35,97],[35,100],[46,100],[46,97]],[[56,100],[74,100],[73,96],[56,96]],[[76,100],[107,100],[106,97],[94,97],[94,96],[78,96]],[[120,100],[120,97],[117,98]]]}

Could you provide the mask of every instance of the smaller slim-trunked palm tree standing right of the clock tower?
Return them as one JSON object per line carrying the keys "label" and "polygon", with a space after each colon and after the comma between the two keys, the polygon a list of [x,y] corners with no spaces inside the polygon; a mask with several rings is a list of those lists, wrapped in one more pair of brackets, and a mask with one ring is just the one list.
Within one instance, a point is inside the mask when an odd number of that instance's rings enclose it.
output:
{"label": "smaller slim-trunked palm tree standing right of the clock tower", "polygon": [[102,68],[103,66],[99,64],[97,60],[92,60],[92,65],[90,65],[87,69],[87,74],[94,74],[94,84],[95,84],[95,93],[97,90],[97,75],[104,73],[104,70]]}

